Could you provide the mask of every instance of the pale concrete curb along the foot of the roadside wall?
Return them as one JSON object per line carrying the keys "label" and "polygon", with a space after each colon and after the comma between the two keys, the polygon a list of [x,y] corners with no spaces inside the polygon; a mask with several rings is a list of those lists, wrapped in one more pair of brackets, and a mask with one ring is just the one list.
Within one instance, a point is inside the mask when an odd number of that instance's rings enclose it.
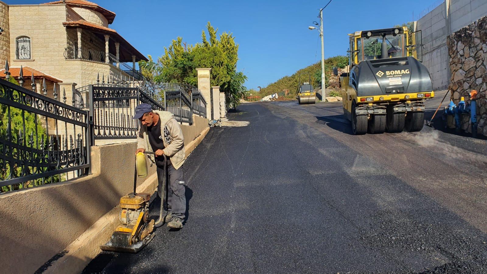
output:
{"label": "pale concrete curb along the foot of the roadside wall", "polygon": [[[189,155],[205,138],[210,127],[206,127],[201,134],[192,140],[187,146],[186,154]],[[186,156],[187,157],[187,156]],[[157,174],[149,176],[144,183],[137,187],[137,192],[154,193],[157,188]],[[105,243],[118,225],[119,207],[114,207],[107,214],[98,219],[89,229],[69,244],[59,259],[54,261],[48,269],[42,273],[66,274],[81,273],[86,265],[101,253],[100,244]]]}

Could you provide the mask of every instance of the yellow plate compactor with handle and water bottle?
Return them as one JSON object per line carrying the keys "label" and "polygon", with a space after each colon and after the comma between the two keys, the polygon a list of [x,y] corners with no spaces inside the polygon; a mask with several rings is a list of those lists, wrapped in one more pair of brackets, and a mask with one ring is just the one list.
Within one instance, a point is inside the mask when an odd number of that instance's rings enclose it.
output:
{"label": "yellow plate compactor with handle and water bottle", "polygon": [[[154,154],[153,152],[144,152]],[[164,167],[167,170],[166,156],[164,156]],[[165,221],[166,215],[163,210],[163,199],[161,198],[161,209],[159,219],[149,220],[150,194],[136,193],[137,175],[146,177],[148,174],[147,163],[144,154],[138,153],[135,160],[135,174],[133,178],[133,192],[120,198],[120,214],[118,219],[120,225],[115,229],[110,240],[100,249],[104,251],[137,253],[144,248],[154,237],[154,226],[158,227]],[[163,190],[166,189],[165,173]],[[163,195],[164,196],[164,195]]]}

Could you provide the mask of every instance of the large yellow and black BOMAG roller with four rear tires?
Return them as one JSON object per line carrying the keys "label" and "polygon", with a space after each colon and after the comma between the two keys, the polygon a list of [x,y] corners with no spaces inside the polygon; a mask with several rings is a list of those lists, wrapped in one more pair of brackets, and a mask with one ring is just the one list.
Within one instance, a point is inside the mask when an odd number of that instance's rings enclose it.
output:
{"label": "large yellow and black BOMAG roller with four rear tires", "polygon": [[354,134],[423,128],[424,102],[434,92],[430,73],[418,60],[420,35],[421,31],[408,35],[407,27],[349,34],[350,69],[340,75],[340,83],[343,112]]}

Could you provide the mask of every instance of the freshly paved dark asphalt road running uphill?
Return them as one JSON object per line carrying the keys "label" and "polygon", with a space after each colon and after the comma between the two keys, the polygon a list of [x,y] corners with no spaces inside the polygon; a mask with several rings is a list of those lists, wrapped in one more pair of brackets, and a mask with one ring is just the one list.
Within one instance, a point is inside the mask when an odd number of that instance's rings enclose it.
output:
{"label": "freshly paved dark asphalt road running uphill", "polygon": [[85,273],[487,273],[486,140],[353,136],[340,103],[228,116],[250,124],[212,128],[188,157],[184,228]]}

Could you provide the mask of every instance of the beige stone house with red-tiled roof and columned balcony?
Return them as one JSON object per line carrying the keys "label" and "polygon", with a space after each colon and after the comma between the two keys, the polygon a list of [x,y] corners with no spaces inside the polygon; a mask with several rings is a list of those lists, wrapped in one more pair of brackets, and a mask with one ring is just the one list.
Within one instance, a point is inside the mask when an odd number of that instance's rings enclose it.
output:
{"label": "beige stone house with red-tiled roof and columned balcony", "polygon": [[[14,78],[20,66],[28,67],[24,77],[29,79],[32,70],[50,76],[48,84],[56,84],[58,94],[66,90],[67,102],[75,89],[94,84],[98,74],[140,80],[135,63],[148,59],[109,28],[114,19],[115,13],[86,0],[36,5],[0,1],[0,68],[8,60]],[[5,77],[3,71],[0,77]]]}

